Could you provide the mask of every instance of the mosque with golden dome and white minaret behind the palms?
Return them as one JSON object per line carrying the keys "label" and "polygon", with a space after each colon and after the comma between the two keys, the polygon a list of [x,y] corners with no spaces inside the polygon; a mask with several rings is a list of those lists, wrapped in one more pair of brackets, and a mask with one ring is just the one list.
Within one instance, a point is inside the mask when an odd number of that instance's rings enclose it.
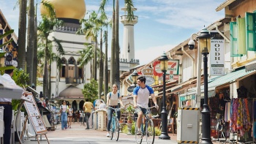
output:
{"label": "mosque with golden dome and white minaret behind the palms", "polygon": [[[56,17],[64,21],[64,25],[56,27],[50,34],[61,41],[65,54],[61,56],[62,67],[56,69],[56,62],[51,64],[51,91],[52,99],[65,99],[75,110],[83,107],[84,96],[82,93],[83,85],[90,83],[91,77],[91,64],[84,65],[80,68],[78,61],[79,51],[86,48],[84,43],[94,42],[91,39],[86,39],[84,35],[75,34],[80,28],[79,20],[85,18],[86,4],[84,0],[47,0],[56,11]],[[139,60],[135,59],[135,44],[134,44],[134,25],[138,23],[138,17],[132,21],[127,19],[126,8],[124,15],[121,15],[121,23],[124,24],[124,37],[123,37],[123,50],[120,55],[120,75],[129,73],[132,69],[139,65]],[[135,8],[133,10],[136,10]],[[41,15],[47,14],[47,9],[40,6]],[[110,50],[110,49],[109,49]],[[53,53],[58,53],[53,46]],[[108,69],[110,70],[110,58],[108,59]],[[109,72],[110,73],[110,72]],[[42,75],[38,77],[39,82],[42,82]],[[129,85],[124,82],[121,83],[121,94],[126,94],[127,91],[122,88],[122,85]],[[37,91],[42,91],[42,86],[37,86]]]}

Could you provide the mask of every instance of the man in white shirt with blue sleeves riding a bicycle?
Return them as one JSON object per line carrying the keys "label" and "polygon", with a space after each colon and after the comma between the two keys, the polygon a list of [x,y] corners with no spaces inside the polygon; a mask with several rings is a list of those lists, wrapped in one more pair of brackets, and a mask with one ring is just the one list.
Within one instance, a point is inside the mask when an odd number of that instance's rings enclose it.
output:
{"label": "man in white shirt with blue sleeves riding a bicycle", "polygon": [[133,102],[135,107],[135,112],[138,113],[138,120],[136,126],[138,127],[138,134],[141,134],[141,123],[143,115],[146,114],[148,108],[148,99],[151,96],[153,99],[155,107],[158,109],[157,99],[154,96],[153,88],[147,86],[146,77],[138,77],[137,79],[138,86],[133,89]]}

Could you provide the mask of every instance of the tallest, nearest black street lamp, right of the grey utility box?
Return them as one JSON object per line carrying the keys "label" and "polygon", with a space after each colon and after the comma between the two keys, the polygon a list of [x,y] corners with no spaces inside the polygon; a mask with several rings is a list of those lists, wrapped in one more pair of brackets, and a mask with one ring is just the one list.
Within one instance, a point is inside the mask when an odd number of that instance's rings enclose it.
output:
{"label": "tallest, nearest black street lamp, right of the grey utility box", "polygon": [[211,110],[208,106],[208,69],[207,55],[211,50],[211,34],[207,29],[202,29],[197,37],[199,41],[200,52],[203,54],[203,86],[204,86],[204,103],[202,113],[202,141],[201,143],[211,142]]}

